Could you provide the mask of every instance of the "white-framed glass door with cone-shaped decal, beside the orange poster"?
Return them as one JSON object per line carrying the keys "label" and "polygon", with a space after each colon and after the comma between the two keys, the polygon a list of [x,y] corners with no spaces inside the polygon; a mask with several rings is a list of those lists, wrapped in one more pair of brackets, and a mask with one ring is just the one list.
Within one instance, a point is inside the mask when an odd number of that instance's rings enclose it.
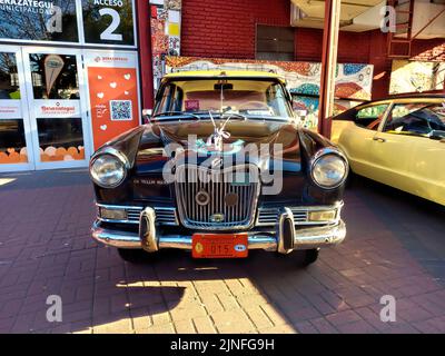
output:
{"label": "white-framed glass door with cone-shaped decal, beside the orange poster", "polygon": [[90,150],[81,52],[23,48],[36,169],[85,167]]}

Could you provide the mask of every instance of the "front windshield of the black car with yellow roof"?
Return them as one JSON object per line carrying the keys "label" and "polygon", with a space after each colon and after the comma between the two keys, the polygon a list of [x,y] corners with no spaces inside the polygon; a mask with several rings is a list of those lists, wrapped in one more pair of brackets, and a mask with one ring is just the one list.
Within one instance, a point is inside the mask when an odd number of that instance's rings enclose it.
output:
{"label": "front windshield of the black car with yellow roof", "polygon": [[161,88],[154,117],[180,113],[238,113],[247,118],[293,118],[284,87],[274,80],[194,79]]}

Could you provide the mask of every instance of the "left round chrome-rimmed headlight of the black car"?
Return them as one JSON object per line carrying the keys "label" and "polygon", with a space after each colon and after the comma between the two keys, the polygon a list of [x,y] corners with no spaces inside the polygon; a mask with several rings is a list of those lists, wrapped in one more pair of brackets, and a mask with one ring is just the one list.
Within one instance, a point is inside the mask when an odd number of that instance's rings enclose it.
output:
{"label": "left round chrome-rimmed headlight of the black car", "polygon": [[91,162],[90,174],[100,187],[113,188],[122,182],[127,171],[123,162],[116,156],[101,155]]}

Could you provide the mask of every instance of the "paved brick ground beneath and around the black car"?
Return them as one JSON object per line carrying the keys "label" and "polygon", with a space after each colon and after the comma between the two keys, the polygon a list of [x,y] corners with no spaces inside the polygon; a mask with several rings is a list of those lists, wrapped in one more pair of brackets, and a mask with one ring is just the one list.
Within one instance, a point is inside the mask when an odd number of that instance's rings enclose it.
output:
{"label": "paved brick ground beneath and around the black car", "polygon": [[[90,239],[86,171],[0,175],[1,333],[444,333],[445,209],[365,179],[346,195],[347,241],[295,257],[129,265]],[[46,319],[60,295],[62,323]],[[382,323],[379,299],[397,300]]]}

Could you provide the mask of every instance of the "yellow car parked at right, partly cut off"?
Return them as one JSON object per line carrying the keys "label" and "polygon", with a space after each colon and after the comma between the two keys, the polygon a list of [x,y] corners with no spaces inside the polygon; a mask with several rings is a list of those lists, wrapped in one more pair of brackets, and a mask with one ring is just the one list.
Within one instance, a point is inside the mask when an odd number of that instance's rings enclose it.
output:
{"label": "yellow car parked at right, partly cut off", "polygon": [[445,205],[445,96],[372,101],[333,119],[353,172]]}

